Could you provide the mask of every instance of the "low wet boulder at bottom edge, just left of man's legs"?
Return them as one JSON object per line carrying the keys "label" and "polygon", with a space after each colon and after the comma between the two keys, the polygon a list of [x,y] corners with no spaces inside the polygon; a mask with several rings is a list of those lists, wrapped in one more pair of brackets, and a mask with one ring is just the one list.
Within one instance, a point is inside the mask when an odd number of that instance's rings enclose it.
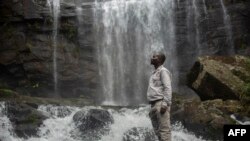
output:
{"label": "low wet boulder at bottom edge, just left of man's legs", "polygon": [[153,130],[144,127],[133,127],[124,133],[123,141],[155,141]]}

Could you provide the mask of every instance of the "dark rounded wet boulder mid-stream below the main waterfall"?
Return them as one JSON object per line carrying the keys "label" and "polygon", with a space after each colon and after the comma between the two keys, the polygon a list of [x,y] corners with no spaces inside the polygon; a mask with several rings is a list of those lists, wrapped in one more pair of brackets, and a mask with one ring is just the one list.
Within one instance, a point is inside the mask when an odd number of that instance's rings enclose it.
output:
{"label": "dark rounded wet boulder mid-stream below the main waterfall", "polygon": [[107,133],[110,124],[114,122],[113,117],[106,110],[90,109],[82,110],[73,116],[78,129],[82,132],[84,140],[97,140],[101,135]]}

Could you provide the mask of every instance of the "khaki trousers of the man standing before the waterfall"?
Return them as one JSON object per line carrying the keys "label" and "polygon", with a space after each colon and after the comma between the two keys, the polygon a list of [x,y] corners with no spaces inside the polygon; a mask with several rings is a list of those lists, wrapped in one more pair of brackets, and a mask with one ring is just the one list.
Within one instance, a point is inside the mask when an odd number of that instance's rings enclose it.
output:
{"label": "khaki trousers of the man standing before the waterfall", "polygon": [[162,101],[157,101],[151,105],[149,117],[159,141],[171,141],[170,107],[164,114],[161,114],[161,104]]}

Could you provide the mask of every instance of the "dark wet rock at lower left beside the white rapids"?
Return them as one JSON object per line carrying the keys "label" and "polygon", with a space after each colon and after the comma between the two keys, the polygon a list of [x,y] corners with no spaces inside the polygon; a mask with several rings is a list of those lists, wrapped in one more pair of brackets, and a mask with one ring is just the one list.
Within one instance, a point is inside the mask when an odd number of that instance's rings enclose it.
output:
{"label": "dark wet rock at lower left beside the white rapids", "polygon": [[38,128],[47,118],[41,112],[37,111],[34,106],[37,107],[34,104],[7,103],[7,115],[18,137],[27,138],[37,136]]}

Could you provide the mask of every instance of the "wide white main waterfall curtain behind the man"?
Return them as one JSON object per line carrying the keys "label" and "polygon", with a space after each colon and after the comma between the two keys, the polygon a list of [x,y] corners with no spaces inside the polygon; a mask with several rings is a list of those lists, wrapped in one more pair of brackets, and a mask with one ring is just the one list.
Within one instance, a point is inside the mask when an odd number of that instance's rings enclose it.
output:
{"label": "wide white main waterfall curtain behind the man", "polygon": [[104,104],[145,101],[150,57],[155,51],[166,54],[165,65],[174,77],[178,75],[174,7],[173,0],[95,2],[94,26]]}

